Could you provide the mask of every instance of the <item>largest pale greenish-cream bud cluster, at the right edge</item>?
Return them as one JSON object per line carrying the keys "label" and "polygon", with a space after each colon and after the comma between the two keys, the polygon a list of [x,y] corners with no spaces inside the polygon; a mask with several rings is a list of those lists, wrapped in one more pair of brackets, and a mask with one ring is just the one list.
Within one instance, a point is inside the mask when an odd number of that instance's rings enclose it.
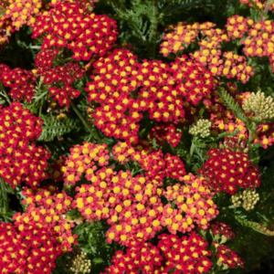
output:
{"label": "largest pale greenish-cream bud cluster, at the right edge", "polygon": [[243,110],[253,112],[259,121],[274,118],[274,102],[272,97],[265,97],[261,91],[251,93],[248,99],[243,102]]}

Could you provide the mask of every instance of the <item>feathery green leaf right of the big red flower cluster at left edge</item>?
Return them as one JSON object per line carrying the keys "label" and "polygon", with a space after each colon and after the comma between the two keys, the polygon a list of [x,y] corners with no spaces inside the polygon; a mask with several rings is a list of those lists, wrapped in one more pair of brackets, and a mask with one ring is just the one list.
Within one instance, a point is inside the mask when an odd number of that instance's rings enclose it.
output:
{"label": "feathery green leaf right of the big red flower cluster at left edge", "polygon": [[58,121],[55,117],[42,115],[44,121],[43,131],[38,141],[53,141],[54,138],[62,136],[68,132],[78,131],[79,123],[73,120]]}

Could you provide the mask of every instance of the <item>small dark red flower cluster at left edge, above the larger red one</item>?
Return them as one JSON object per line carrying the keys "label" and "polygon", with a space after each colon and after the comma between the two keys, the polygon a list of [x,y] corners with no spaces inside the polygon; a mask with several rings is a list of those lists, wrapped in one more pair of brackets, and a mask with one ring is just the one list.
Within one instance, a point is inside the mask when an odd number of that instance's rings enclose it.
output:
{"label": "small dark red flower cluster at left edge, above the larger red one", "polygon": [[26,100],[29,103],[36,94],[36,77],[31,70],[10,69],[0,64],[0,81],[10,88],[9,95],[15,100]]}

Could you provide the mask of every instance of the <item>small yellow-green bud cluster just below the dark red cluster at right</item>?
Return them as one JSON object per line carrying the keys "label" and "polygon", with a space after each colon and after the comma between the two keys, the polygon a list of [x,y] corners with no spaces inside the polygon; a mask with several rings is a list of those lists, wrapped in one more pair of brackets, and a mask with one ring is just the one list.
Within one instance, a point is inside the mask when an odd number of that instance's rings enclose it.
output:
{"label": "small yellow-green bud cluster just below the dark red cluster at right", "polygon": [[259,197],[255,190],[247,189],[242,193],[231,196],[234,207],[242,206],[244,209],[252,210],[258,203]]}

